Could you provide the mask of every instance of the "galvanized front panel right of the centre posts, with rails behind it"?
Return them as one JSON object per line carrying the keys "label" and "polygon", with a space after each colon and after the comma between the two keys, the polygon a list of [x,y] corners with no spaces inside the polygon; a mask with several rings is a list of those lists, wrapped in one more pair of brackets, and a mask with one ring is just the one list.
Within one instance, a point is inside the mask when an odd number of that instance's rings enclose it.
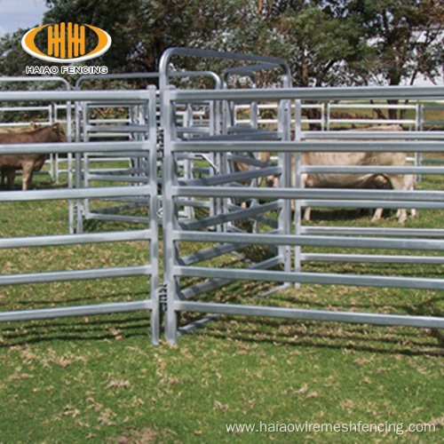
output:
{"label": "galvanized front panel right of the centre posts, with rails behind it", "polygon": [[[226,107],[230,104],[255,102],[278,102],[280,107],[279,128],[274,131],[272,137],[266,132],[261,134],[254,131],[238,131],[228,127],[227,133],[214,138],[180,140],[176,136],[174,119],[166,118],[165,131],[165,159],[163,193],[167,197],[170,206],[163,220],[163,233],[165,242],[165,275],[168,303],[167,318],[165,322],[165,335],[174,343],[180,330],[177,325],[177,314],[181,311],[199,313],[226,313],[242,315],[258,315],[283,317],[291,319],[323,320],[323,321],[347,321],[365,322],[385,325],[404,325],[428,328],[444,328],[444,319],[433,316],[408,316],[388,313],[344,313],[320,310],[301,310],[298,308],[281,308],[274,306],[257,306],[241,304],[221,304],[216,300],[200,298],[203,294],[218,286],[226,285],[235,280],[245,281],[274,281],[284,284],[295,283],[320,283],[331,285],[358,285],[363,287],[387,287],[400,289],[444,289],[444,279],[405,277],[405,276],[379,276],[366,274],[328,274],[305,273],[301,271],[301,263],[305,260],[340,261],[340,262],[395,262],[395,263],[424,263],[440,264],[442,257],[420,256],[407,257],[384,254],[319,254],[304,253],[302,247],[319,246],[337,248],[340,251],[347,248],[379,249],[383,250],[419,250],[419,251],[444,251],[444,241],[440,239],[427,239],[431,236],[430,230],[395,229],[395,232],[385,228],[342,228],[343,232],[330,233],[332,228],[302,226],[301,208],[305,206],[321,207],[368,207],[368,208],[421,208],[444,209],[444,192],[442,191],[407,191],[407,190],[356,190],[343,189],[332,190],[322,188],[296,188],[290,186],[290,175],[296,175],[297,183],[303,172],[347,172],[361,173],[400,173],[442,174],[439,167],[420,166],[304,166],[298,165],[297,170],[289,170],[291,162],[289,155],[302,152],[442,152],[444,141],[442,132],[395,132],[389,134],[385,131],[363,134],[361,132],[345,133],[343,131],[324,131],[321,139],[320,131],[301,131],[301,122],[296,122],[296,136],[289,139],[289,108],[292,102],[300,99],[441,99],[444,95],[443,88],[329,88],[329,89],[276,89],[276,90],[241,90],[241,91],[163,91],[163,112],[167,117],[174,115],[174,103],[202,102],[213,100]],[[254,128],[254,123],[251,124]],[[310,140],[318,139],[318,140]],[[273,139],[273,141],[271,141]],[[304,140],[303,140],[304,139]],[[347,140],[348,139],[348,140]],[[379,140],[378,140],[379,139]],[[277,188],[264,188],[260,186],[242,186],[242,181],[247,178],[258,178],[276,172],[270,170],[271,165],[263,165],[258,170],[246,172],[231,171],[224,175],[205,180],[180,183],[177,180],[175,170],[175,158],[184,153],[218,153],[229,156],[245,153],[269,152],[278,153],[279,160],[275,167],[281,170],[280,185]],[[245,157],[244,157],[245,158]],[[180,224],[177,218],[177,205],[181,198],[194,199],[215,198],[224,202],[223,211],[216,218],[210,218],[208,223],[195,221],[188,225]],[[242,208],[236,205],[235,199],[254,200],[250,208]],[[270,203],[264,204],[266,201]],[[292,232],[286,224],[289,220],[289,202],[296,202],[296,222]],[[268,205],[268,206],[267,206]],[[270,206],[271,205],[271,206]],[[274,205],[274,206],[273,206]],[[263,211],[262,211],[263,209]],[[239,225],[242,219],[269,218],[269,211],[277,211],[273,229],[266,233],[255,232]],[[215,229],[220,224],[222,228]],[[210,230],[209,230],[210,228]],[[337,228],[340,230],[341,228]],[[367,231],[366,231],[367,230]],[[344,234],[344,235],[343,235]],[[396,235],[396,238],[386,236]],[[442,233],[434,232],[434,235],[442,236]],[[406,239],[406,236],[416,236],[417,239]],[[371,236],[371,237],[370,237]],[[377,237],[373,237],[377,236]],[[181,257],[180,243],[193,242],[197,248],[194,260]],[[210,247],[209,247],[210,244]],[[215,246],[213,246],[215,245]],[[225,254],[242,250],[246,246],[261,245],[273,247],[276,255],[268,258],[262,265],[244,265],[241,269],[230,266],[214,266],[214,264],[199,264],[207,258],[214,258]],[[295,251],[295,262],[289,267],[290,251]],[[417,261],[417,262],[416,262]],[[276,270],[275,266],[281,269]],[[273,268],[273,269],[270,269]],[[200,280],[199,280],[199,279]],[[198,283],[186,287],[182,281]],[[203,281],[202,281],[203,280]],[[192,282],[193,282],[192,281]],[[189,284],[188,284],[189,285]]]}

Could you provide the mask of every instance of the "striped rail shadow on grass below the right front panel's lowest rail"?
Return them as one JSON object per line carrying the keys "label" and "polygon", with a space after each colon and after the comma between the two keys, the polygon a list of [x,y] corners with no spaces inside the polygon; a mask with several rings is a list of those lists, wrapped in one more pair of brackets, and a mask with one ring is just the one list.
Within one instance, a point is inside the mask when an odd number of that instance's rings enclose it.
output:
{"label": "striped rail shadow on grass below the right front panel's lowest rail", "polygon": [[[437,329],[413,329],[406,327],[359,326],[321,321],[276,321],[249,319],[248,327],[240,327],[242,321],[226,321],[218,318],[193,334],[202,341],[207,337],[243,344],[273,344],[304,349],[313,347],[348,352],[377,354],[402,354],[406,356],[444,356],[443,334]],[[223,327],[221,327],[221,323]],[[264,329],[266,326],[267,329]],[[288,332],[282,332],[287,329]],[[180,346],[180,340],[178,345]]]}

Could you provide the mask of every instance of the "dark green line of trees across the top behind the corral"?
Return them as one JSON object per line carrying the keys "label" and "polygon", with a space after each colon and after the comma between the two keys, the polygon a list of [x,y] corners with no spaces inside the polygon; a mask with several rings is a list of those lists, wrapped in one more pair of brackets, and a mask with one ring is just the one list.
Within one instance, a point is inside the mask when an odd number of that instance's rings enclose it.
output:
{"label": "dark green line of trees across the top behind the corral", "polygon": [[[443,74],[441,0],[46,3],[51,9],[42,24],[73,21],[107,30],[111,49],[87,63],[106,65],[108,72],[152,72],[167,48],[186,46],[286,59],[295,86],[436,82]],[[23,75],[27,66],[45,63],[21,49],[25,32],[18,29],[0,39],[2,75]],[[186,63],[196,67],[195,61]]]}

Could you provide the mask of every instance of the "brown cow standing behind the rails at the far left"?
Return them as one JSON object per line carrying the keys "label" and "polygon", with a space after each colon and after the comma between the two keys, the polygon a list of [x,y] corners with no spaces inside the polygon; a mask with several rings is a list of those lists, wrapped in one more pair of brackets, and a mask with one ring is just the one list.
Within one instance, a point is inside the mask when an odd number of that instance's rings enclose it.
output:
{"label": "brown cow standing behind the rails at the far left", "polygon": [[[66,142],[67,136],[59,123],[39,127],[30,131],[0,132],[0,144]],[[8,186],[14,189],[15,170],[23,170],[22,190],[32,186],[32,175],[44,166],[48,155],[0,155],[0,170],[8,178]]]}

